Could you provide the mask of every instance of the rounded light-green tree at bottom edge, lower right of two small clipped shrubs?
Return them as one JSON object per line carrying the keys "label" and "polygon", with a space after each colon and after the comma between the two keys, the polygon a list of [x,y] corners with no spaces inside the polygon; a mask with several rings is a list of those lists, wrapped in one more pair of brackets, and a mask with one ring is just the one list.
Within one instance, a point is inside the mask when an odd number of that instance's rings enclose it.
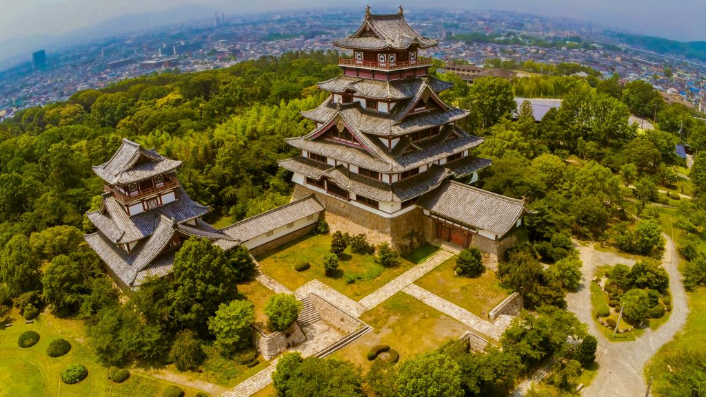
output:
{"label": "rounded light-green tree at bottom edge, lower right of two small clipped shrubs", "polygon": [[397,374],[399,397],[461,397],[461,369],[443,353],[426,353],[402,362]]}

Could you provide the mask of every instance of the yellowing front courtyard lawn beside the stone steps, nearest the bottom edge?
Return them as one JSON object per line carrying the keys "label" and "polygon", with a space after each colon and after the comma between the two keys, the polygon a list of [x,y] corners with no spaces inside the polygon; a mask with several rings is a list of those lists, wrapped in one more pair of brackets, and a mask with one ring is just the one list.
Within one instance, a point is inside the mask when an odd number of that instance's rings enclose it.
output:
{"label": "yellowing front courtyard lawn beside the stone steps, nearest the bottom edge", "polygon": [[405,293],[366,312],[361,319],[373,331],[345,346],[332,358],[349,360],[366,371],[372,362],[366,354],[371,347],[385,344],[400,352],[400,360],[433,350],[449,339],[461,336],[468,327]]}

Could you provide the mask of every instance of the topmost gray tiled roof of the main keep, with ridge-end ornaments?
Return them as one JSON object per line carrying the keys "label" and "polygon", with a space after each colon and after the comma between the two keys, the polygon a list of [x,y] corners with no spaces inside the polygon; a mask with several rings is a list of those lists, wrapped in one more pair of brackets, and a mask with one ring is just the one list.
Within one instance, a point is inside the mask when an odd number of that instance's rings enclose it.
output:
{"label": "topmost gray tiled roof of the main keep, with ridge-end ornaments", "polygon": [[[371,37],[373,32],[377,37]],[[371,15],[366,14],[363,25],[350,37],[334,40],[337,47],[352,49],[407,49],[412,44],[420,48],[429,48],[438,44],[438,40],[422,37],[405,21],[402,14]]]}

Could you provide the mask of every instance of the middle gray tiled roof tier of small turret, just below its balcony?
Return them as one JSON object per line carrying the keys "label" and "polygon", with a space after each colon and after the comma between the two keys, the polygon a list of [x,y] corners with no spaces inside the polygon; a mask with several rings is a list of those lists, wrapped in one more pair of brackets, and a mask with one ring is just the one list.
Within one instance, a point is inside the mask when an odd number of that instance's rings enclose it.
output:
{"label": "middle gray tiled roof tier of small turret, just below its balcony", "polygon": [[86,215],[113,243],[129,243],[150,236],[162,215],[181,224],[209,211],[208,207],[191,200],[181,186],[174,190],[174,195],[177,197],[174,202],[128,216],[123,205],[113,195],[104,194],[103,207]]}

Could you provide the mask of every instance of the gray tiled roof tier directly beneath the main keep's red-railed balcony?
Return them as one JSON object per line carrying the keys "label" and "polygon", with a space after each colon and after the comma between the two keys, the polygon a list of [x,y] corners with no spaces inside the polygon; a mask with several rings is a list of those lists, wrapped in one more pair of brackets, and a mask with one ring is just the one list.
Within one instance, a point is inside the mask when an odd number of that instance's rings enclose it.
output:
{"label": "gray tiled roof tier directly beneath the main keep's red-railed balcony", "polygon": [[[373,99],[405,99],[414,97],[422,84],[419,78],[405,78],[401,80],[373,80],[372,78],[359,78],[340,75],[318,83],[321,90],[329,92],[343,92],[352,90],[361,97]],[[448,83],[436,78],[429,78],[429,86],[434,92],[441,92],[453,87],[453,83]]]}

